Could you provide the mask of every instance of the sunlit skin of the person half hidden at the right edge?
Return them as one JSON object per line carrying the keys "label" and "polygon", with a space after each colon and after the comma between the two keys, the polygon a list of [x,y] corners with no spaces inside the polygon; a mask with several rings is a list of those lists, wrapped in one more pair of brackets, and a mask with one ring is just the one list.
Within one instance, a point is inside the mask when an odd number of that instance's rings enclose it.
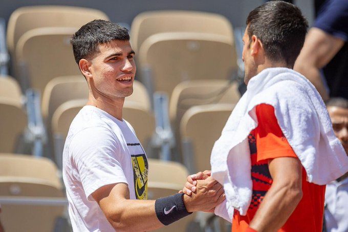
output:
{"label": "sunlit skin of the person half hidden at the right edge", "polygon": [[[345,153],[348,155],[348,109],[340,107],[328,107],[329,115],[336,137],[342,143]],[[348,173],[338,180],[348,177]]]}

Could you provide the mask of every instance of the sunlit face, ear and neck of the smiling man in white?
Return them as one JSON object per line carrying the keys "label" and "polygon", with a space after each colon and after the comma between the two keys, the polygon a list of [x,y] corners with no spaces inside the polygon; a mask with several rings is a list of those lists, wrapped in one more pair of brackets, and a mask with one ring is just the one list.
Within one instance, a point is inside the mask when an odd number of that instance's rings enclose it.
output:
{"label": "sunlit face, ear and neck of the smiling man in white", "polygon": [[[88,105],[122,120],[124,98],[133,93],[136,73],[129,41],[113,40],[98,46],[93,57],[81,59],[79,67],[89,86]],[[122,81],[122,78],[129,80]]]}

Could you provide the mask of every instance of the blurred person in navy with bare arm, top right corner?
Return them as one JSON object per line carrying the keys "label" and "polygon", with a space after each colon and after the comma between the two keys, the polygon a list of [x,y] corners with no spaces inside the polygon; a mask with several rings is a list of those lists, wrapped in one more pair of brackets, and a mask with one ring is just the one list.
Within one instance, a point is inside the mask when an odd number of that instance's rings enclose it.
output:
{"label": "blurred person in navy with bare arm, top right corner", "polygon": [[306,76],[324,101],[348,98],[348,1],[316,1],[318,17],[309,30],[294,70]]}

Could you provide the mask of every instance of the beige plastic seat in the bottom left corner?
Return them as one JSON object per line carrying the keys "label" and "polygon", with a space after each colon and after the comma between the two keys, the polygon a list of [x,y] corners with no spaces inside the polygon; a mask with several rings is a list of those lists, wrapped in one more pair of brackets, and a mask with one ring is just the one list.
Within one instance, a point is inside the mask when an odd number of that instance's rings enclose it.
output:
{"label": "beige plastic seat in the bottom left corner", "polygon": [[[0,156],[0,198],[21,200],[54,197],[62,199],[57,168],[46,158],[24,155]],[[53,231],[64,206],[2,202],[1,221],[6,231]],[[20,219],[20,222],[18,222]]]}

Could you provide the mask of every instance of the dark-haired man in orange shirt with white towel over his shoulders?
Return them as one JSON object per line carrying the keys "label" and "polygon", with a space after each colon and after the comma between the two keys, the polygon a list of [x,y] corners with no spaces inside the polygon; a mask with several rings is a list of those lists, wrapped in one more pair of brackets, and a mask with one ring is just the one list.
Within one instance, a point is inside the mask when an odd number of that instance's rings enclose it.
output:
{"label": "dark-haired man in orange shirt with white towel over his shoulders", "polygon": [[[233,232],[321,231],[325,184],[348,170],[319,93],[292,70],[307,28],[300,10],[282,1],[259,6],[247,18],[247,91],[210,160],[227,200],[215,214],[232,220]],[[184,193],[193,186],[189,177]]]}

